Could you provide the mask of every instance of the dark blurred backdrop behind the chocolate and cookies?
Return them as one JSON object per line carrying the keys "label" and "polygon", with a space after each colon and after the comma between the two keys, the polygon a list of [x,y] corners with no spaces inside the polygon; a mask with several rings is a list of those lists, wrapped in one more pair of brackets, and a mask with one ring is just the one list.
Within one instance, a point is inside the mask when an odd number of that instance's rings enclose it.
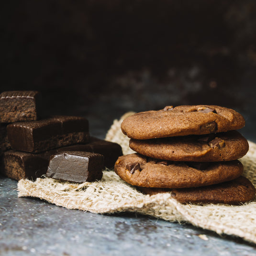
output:
{"label": "dark blurred backdrop behind the chocolate and cookies", "polygon": [[1,4],[0,90],[39,90],[45,115],[104,137],[127,111],[216,104],[256,141],[255,0],[48,0]]}

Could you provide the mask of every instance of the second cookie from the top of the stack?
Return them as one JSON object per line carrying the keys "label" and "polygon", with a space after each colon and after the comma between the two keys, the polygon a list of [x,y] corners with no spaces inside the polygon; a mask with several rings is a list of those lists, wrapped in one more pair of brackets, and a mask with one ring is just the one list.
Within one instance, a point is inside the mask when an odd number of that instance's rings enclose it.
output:
{"label": "second cookie from the top of the stack", "polygon": [[130,148],[152,158],[171,161],[217,162],[245,156],[247,140],[237,131],[150,140],[130,139]]}

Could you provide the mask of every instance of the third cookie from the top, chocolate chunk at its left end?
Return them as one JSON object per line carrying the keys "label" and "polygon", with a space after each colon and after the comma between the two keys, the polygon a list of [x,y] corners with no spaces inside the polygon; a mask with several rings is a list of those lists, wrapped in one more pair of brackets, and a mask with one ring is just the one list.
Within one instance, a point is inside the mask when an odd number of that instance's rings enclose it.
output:
{"label": "third cookie from the top, chocolate chunk at its left end", "polygon": [[149,188],[191,188],[238,178],[243,165],[227,162],[174,162],[157,160],[138,153],[120,156],[115,172],[127,183]]}

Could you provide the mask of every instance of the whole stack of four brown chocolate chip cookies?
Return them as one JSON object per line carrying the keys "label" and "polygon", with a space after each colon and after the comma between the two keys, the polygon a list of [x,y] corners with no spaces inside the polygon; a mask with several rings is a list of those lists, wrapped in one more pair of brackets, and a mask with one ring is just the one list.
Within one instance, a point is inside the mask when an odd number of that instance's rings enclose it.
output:
{"label": "whole stack of four brown chocolate chip cookies", "polygon": [[239,204],[255,188],[237,160],[248,142],[238,112],[219,106],[167,106],[127,117],[121,125],[137,153],[121,156],[115,172],[148,194],[169,191],[182,203]]}

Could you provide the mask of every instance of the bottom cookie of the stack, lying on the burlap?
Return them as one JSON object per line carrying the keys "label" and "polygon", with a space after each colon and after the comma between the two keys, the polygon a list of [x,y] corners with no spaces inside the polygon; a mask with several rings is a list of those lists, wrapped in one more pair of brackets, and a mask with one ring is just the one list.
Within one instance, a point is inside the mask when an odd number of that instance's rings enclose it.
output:
{"label": "bottom cookie of the stack, lying on the burlap", "polygon": [[255,187],[247,178],[240,176],[231,181],[206,187],[189,189],[138,188],[145,194],[171,193],[181,203],[224,203],[238,205],[255,198]]}

